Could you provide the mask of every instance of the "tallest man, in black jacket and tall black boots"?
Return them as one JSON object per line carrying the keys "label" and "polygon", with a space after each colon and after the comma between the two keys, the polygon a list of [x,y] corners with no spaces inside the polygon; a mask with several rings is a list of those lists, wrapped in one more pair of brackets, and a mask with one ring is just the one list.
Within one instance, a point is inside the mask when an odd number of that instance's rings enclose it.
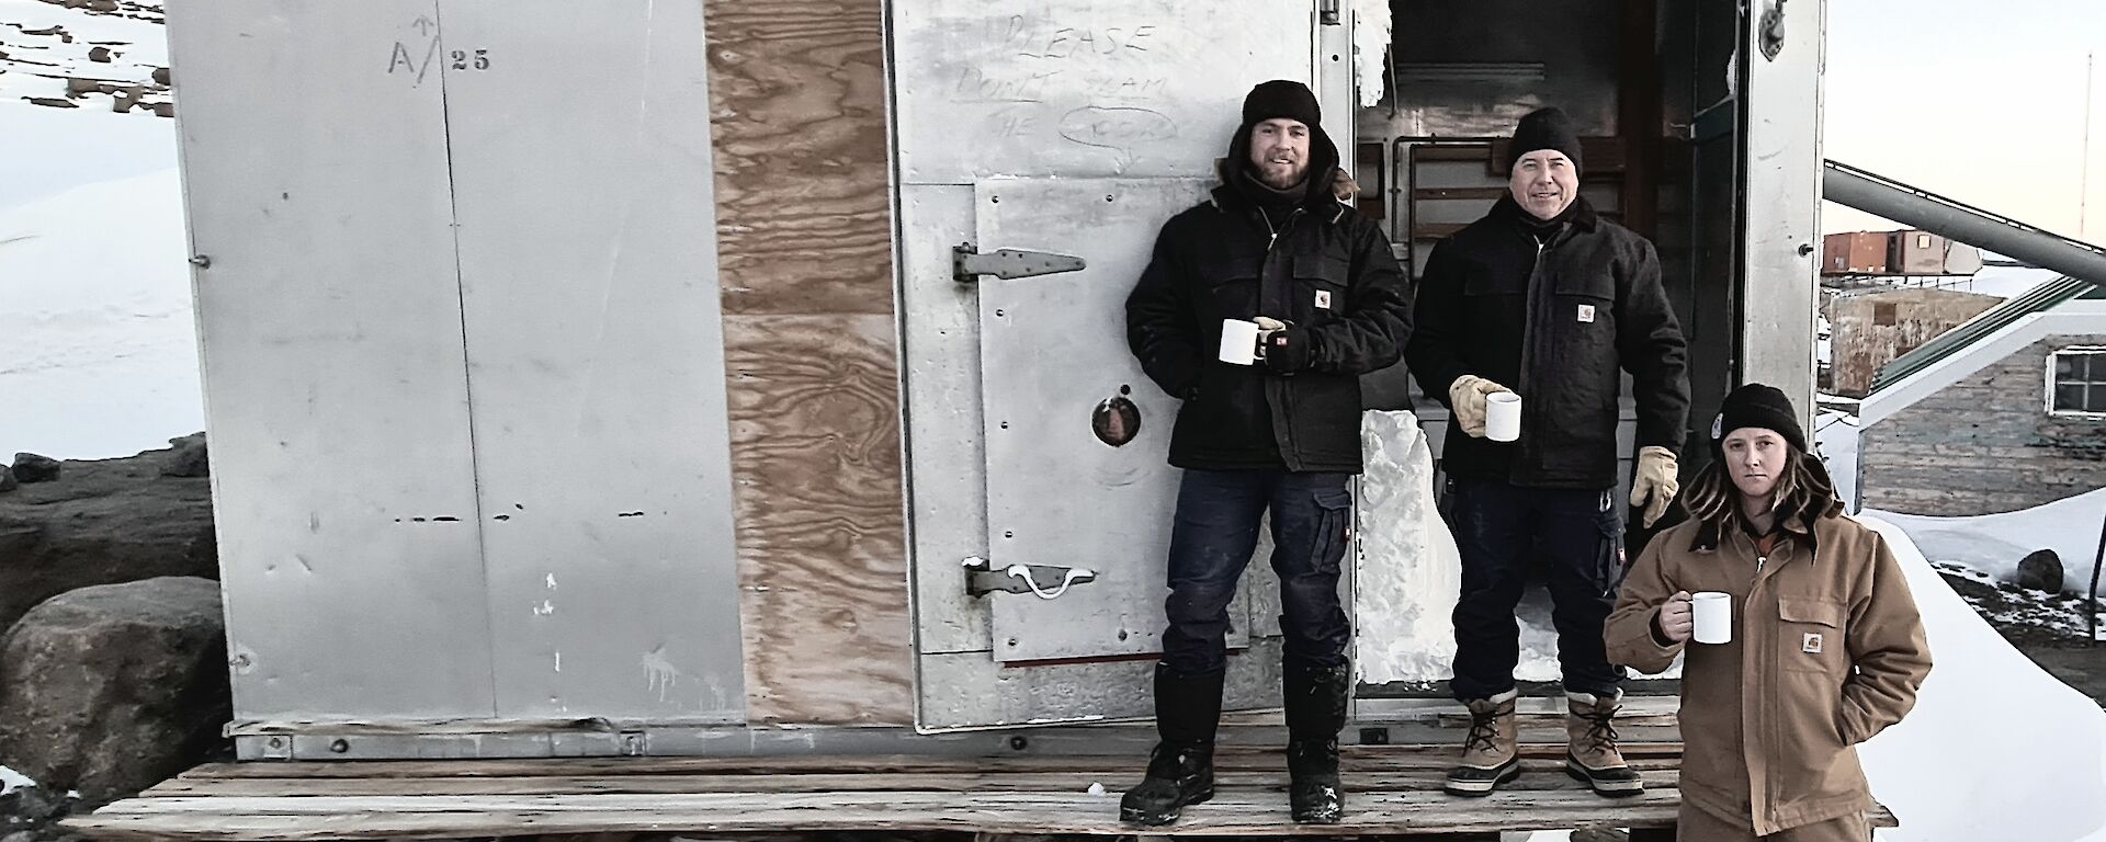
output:
{"label": "tallest man, in black jacket and tall black boots", "polygon": [[[1251,88],[1221,185],[1163,225],[1127,299],[1133,356],[1184,400],[1169,459],[1186,469],[1154,680],[1163,741],[1120,802],[1127,821],[1171,823],[1213,796],[1228,602],[1268,509],[1287,636],[1289,802],[1295,821],[1335,823],[1344,808],[1337,733],[1352,676],[1337,579],[1348,480],[1360,472],[1358,375],[1403,354],[1411,288],[1382,229],[1333,200],[1335,168],[1310,88]],[[1219,360],[1224,320],[1259,324],[1261,362]]]}

